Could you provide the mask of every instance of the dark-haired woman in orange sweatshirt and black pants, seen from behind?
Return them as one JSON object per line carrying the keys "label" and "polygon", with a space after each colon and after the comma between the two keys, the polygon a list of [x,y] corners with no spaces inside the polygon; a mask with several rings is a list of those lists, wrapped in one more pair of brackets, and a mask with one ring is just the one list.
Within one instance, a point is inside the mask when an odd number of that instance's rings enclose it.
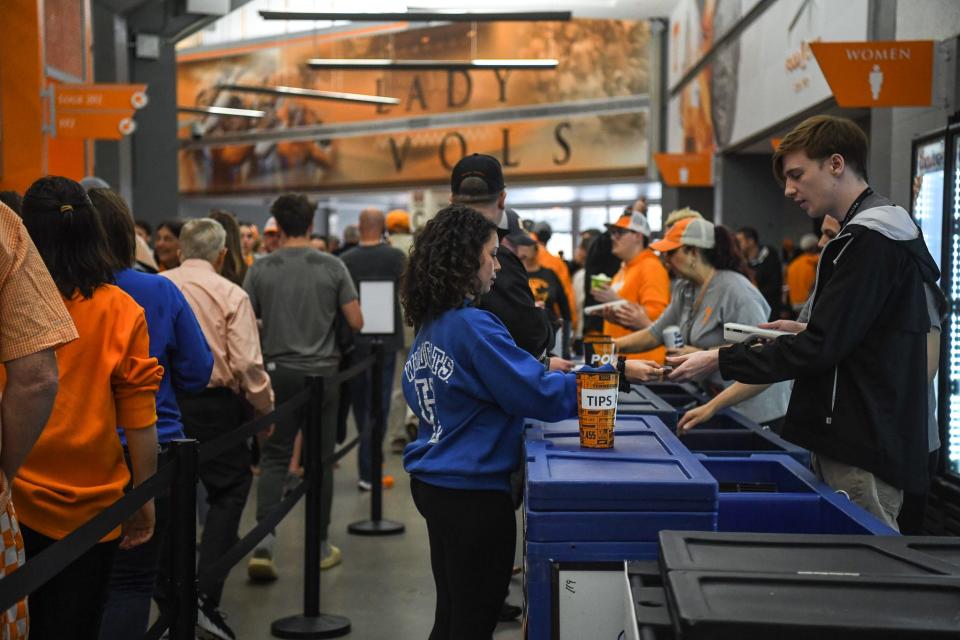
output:
{"label": "dark-haired woman in orange sweatshirt and black pants, seen from behind", "polygon": [[[123,497],[157,466],[156,393],[163,368],[149,354],[143,309],[113,280],[116,265],[86,192],[45,177],[27,190],[23,223],[64,298],[78,340],[56,350],[53,411],[13,481],[24,546],[36,557]],[[21,301],[21,304],[36,304]],[[30,594],[34,640],[96,638],[113,556],[153,535],[153,501]]]}

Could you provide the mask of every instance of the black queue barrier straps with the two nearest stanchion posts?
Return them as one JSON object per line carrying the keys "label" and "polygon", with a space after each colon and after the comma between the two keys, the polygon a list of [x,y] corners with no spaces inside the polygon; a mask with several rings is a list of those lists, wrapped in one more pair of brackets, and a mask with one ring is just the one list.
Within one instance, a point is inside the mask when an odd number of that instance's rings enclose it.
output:
{"label": "black queue barrier straps with the two nearest stanchion posts", "polygon": [[[304,406],[308,409],[306,428],[303,430],[306,450],[306,480],[290,492],[266,518],[257,523],[242,540],[227,551],[214,565],[199,576],[200,585],[224,577],[230,569],[249,553],[258,542],[267,536],[296,505],[307,495],[304,571],[304,615],[277,620],[271,626],[273,634],[281,638],[333,638],[350,631],[350,621],[342,616],[320,613],[320,482],[324,467],[330,467],[343,458],[359,438],[341,447],[329,458],[323,459],[321,442],[321,411],[324,385],[337,386],[369,369],[376,359],[371,356],[358,362],[346,371],[327,379],[311,377],[307,388],[275,411],[252,420],[215,440],[198,447],[196,440],[175,440],[171,443],[173,456],[143,484],[136,487],[115,503],[94,516],[89,522],[50,546],[23,567],[0,579],[0,611],[14,604],[46,584],[63,571],[104,536],[125,522],[147,501],[165,491],[171,494],[171,582],[168,599],[171,610],[160,617],[147,631],[144,640],[157,640],[164,632],[170,632],[171,640],[193,640],[197,621],[198,576],[196,573],[197,549],[197,481],[198,465],[220,455],[238,442],[266,429],[275,422],[292,416]],[[167,617],[167,616],[171,617]]]}

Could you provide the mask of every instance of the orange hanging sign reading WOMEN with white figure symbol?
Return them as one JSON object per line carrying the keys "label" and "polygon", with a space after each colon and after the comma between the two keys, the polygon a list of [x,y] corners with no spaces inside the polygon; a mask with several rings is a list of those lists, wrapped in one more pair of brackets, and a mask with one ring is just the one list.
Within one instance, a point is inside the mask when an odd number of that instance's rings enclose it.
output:
{"label": "orange hanging sign reading WOMEN with white figure symbol", "polygon": [[933,40],[811,42],[841,107],[926,107],[933,96]]}

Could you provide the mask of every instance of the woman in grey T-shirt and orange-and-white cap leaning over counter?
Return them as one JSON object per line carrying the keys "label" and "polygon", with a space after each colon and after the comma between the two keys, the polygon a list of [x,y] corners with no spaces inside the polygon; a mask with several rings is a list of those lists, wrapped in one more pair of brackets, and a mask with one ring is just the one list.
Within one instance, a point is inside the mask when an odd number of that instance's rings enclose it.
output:
{"label": "woman in grey T-shirt and orange-and-white cap leaning over counter", "polygon": [[[656,322],[616,340],[618,351],[632,353],[652,349],[663,343],[663,330],[671,325],[680,328],[685,346],[680,349],[668,346],[668,355],[716,349],[724,344],[725,323],[756,326],[767,321],[770,307],[751,282],[753,274],[726,227],[700,218],[687,218],[670,227],[663,240],[652,243],[650,248],[659,251],[682,280]],[[700,383],[713,393],[730,384],[719,374]],[[789,397],[789,383],[782,382],[734,408],[755,422],[778,426],[787,412]]]}

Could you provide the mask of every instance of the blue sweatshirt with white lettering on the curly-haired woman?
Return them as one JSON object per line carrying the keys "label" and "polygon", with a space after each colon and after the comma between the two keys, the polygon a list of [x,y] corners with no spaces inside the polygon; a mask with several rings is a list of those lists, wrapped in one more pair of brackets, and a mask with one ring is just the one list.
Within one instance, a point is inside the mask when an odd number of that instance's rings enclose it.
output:
{"label": "blue sweatshirt with white lettering on the curly-haired woman", "polygon": [[574,374],[544,371],[489,311],[454,309],[417,333],[403,395],[420,419],[403,466],[450,489],[510,490],[524,418],[577,415]]}

